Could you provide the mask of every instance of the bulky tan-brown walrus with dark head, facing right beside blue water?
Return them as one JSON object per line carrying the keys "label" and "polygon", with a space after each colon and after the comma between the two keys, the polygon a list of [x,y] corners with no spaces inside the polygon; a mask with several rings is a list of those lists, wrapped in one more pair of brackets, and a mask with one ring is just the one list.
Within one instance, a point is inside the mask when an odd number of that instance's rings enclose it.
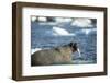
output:
{"label": "bulky tan-brown walrus with dark head, facing right beside blue water", "polygon": [[72,55],[75,51],[77,51],[76,43],[69,43],[52,49],[43,49],[31,55],[31,66],[70,63]]}

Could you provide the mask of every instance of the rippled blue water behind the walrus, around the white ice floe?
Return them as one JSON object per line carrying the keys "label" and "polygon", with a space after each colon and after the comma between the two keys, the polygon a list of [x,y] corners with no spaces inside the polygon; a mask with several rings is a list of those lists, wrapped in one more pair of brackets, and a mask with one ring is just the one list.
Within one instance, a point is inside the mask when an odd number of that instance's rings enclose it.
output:
{"label": "rippled blue water behind the walrus, around the white ice floe", "polygon": [[[96,27],[77,27],[68,24],[59,24],[59,27],[74,33],[74,36],[69,35],[53,35],[53,26],[50,24],[40,24],[32,22],[31,24],[31,49],[35,48],[53,48],[62,45],[69,44],[70,42],[77,43],[80,49],[81,57],[78,52],[73,54],[73,61],[75,64],[87,64],[97,62],[97,31]],[[91,31],[86,34],[86,31]]]}

